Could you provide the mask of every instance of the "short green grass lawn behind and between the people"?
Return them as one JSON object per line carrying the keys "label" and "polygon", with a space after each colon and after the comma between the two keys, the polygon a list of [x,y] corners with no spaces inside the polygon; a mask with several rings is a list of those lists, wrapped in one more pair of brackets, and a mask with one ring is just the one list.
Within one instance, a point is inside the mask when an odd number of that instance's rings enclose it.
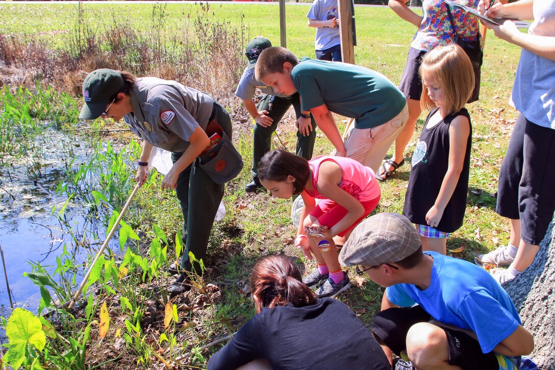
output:
{"label": "short green grass lawn behind and between the people", "polygon": [[[82,4],[79,13],[76,4],[18,4],[0,3],[0,12],[9,14],[0,20],[0,34],[24,34],[38,36],[54,48],[67,48],[68,37],[75,32],[75,22],[87,22],[95,29],[108,29],[113,23],[123,23],[128,27],[151,32],[156,24],[163,24],[160,33],[169,35],[186,32],[193,27],[193,19],[199,12],[198,4]],[[157,8],[158,7],[158,8]],[[306,12],[309,4],[287,4],[287,46],[297,56],[314,57],[314,33],[306,24]],[[157,11],[158,9],[158,11]],[[160,17],[160,9],[163,16]],[[211,4],[214,21],[227,21],[230,27],[246,26],[248,39],[263,35],[274,44],[279,43],[279,7],[278,4]],[[355,61],[357,64],[379,71],[398,84],[405,66],[406,54],[412,41],[415,27],[402,21],[387,7],[356,7],[357,43]],[[79,16],[81,14],[81,16]],[[157,15],[158,14],[158,15]],[[77,21],[76,21],[77,20]],[[244,45],[238,45],[243,48]],[[452,256],[473,260],[476,253],[486,252],[500,244],[506,244],[509,237],[509,223],[495,213],[497,178],[499,165],[507,148],[516,111],[508,105],[511,87],[518,63],[519,48],[500,41],[492,32],[488,32],[484,64],[482,66],[482,83],[480,101],[469,104],[473,124],[470,189],[467,200],[465,224],[448,239],[447,248]],[[245,60],[246,62],[246,60]],[[349,89],[349,86],[338,88]],[[240,101],[234,99],[234,87],[229,87],[229,109],[235,114],[247,114]],[[425,117],[427,112],[422,113]],[[290,116],[289,116],[290,117]],[[344,129],[345,120],[336,117],[340,131]],[[412,154],[422,128],[422,119],[412,138],[407,154]],[[109,123],[106,123],[109,124]],[[278,128],[278,138],[274,144],[279,148],[294,151],[295,135],[293,122],[282,123]],[[250,297],[243,289],[256,259],[267,253],[285,252],[299,257],[309,271],[312,263],[301,258],[300,253],[292,247],[295,229],[290,222],[292,201],[272,199],[267,193],[248,197],[244,186],[250,181],[251,139],[249,124],[239,127],[236,124],[236,142],[245,159],[245,167],[240,176],[230,182],[226,188],[224,202],[227,214],[222,222],[216,223],[211,239],[209,278],[221,290],[221,300],[206,307],[202,312],[184,314],[200,329],[196,337],[188,339],[189,348],[200,347],[211,336],[233,332],[240,327],[254,312]],[[246,127],[246,128],[245,128]],[[331,151],[329,141],[320,135],[317,138],[314,155],[327,154]],[[392,151],[390,151],[391,154]],[[380,183],[382,198],[376,213],[401,212],[410,173],[410,158],[406,159],[397,176]],[[432,174],[433,176],[433,174]],[[440,176],[440,175],[438,175]],[[155,219],[166,230],[178,229],[180,215],[176,204],[164,204],[155,201],[160,197],[153,187],[148,192],[138,195],[137,204],[144,208],[149,219]],[[160,197],[161,198],[161,197]],[[154,199],[154,201],[153,201]],[[175,202],[170,200],[170,202]],[[158,208],[170,209],[162,214]],[[170,214],[170,212],[173,212]],[[166,223],[164,223],[166,222]],[[339,299],[351,307],[369,324],[376,311],[379,311],[382,288],[376,284],[351,274],[354,287]],[[113,309],[117,309],[114,305]],[[195,325],[184,330],[194,331]],[[110,331],[115,331],[110,329]],[[113,341],[113,338],[109,339]],[[210,351],[201,352],[195,357],[195,366],[203,367]],[[147,368],[147,367],[145,367]]]}

